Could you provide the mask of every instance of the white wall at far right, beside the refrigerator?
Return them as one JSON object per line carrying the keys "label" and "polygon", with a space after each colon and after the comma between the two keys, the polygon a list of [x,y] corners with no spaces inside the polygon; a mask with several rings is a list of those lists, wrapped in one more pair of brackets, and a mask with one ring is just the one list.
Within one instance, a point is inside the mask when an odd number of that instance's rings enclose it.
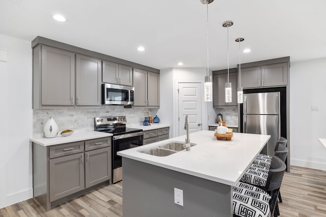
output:
{"label": "white wall at far right, beside the refrigerator", "polygon": [[[311,111],[317,105],[319,111]],[[326,58],[291,63],[291,165],[326,170]]]}

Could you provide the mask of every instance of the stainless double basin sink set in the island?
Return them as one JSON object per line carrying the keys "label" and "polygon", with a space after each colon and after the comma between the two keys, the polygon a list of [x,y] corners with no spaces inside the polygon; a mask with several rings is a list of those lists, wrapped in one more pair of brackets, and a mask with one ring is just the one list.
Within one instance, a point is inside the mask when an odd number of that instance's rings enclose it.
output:
{"label": "stainless double basin sink set in the island", "polygon": [[[169,143],[164,143],[156,147],[151,147],[145,150],[140,150],[139,152],[141,153],[147,153],[151,154],[153,156],[158,156],[158,157],[165,157],[169,156],[170,154],[176,153],[178,151],[182,151],[185,148],[183,147],[184,143],[182,142],[169,142]],[[190,146],[196,145],[195,143],[191,143]]]}

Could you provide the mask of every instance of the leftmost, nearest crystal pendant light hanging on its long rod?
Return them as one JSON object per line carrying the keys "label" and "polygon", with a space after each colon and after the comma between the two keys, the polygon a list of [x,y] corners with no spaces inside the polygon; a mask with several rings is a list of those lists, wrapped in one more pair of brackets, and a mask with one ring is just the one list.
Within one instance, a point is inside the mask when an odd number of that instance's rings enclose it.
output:
{"label": "leftmost, nearest crystal pendant light hanging on its long rod", "polygon": [[212,3],[214,0],[200,0],[202,4],[207,5],[207,76],[205,76],[205,83],[204,83],[204,100],[205,102],[212,101],[212,76],[209,76],[209,52],[208,52],[208,4]]}

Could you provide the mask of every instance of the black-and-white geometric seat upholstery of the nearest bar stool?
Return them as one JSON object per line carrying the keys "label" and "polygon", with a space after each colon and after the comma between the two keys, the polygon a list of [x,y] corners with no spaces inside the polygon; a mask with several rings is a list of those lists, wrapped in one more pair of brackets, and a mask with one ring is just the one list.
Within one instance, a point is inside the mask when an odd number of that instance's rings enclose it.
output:
{"label": "black-and-white geometric seat upholstery of the nearest bar stool", "polygon": [[263,190],[238,182],[233,187],[233,214],[242,217],[270,217],[270,196]]}

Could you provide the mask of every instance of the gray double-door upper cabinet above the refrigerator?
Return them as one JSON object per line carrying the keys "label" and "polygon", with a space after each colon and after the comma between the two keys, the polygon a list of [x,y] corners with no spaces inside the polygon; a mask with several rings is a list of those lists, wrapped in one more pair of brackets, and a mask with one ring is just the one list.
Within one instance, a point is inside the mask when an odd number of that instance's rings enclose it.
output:
{"label": "gray double-door upper cabinet above the refrigerator", "polygon": [[284,86],[288,83],[287,63],[241,69],[243,88]]}

